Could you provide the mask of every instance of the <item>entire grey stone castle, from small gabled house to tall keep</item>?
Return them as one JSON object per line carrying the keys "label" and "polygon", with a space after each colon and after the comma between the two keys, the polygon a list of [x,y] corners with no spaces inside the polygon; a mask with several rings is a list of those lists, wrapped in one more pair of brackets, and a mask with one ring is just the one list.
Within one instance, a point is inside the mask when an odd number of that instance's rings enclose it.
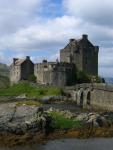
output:
{"label": "entire grey stone castle, from small gabled house to tall keep", "polygon": [[70,39],[69,44],[60,50],[60,62],[43,60],[42,63],[34,64],[29,56],[25,59],[13,58],[10,66],[11,84],[35,75],[39,84],[73,85],[75,68],[91,75],[98,75],[98,52],[99,47],[94,46],[87,35],[82,35],[81,39]]}

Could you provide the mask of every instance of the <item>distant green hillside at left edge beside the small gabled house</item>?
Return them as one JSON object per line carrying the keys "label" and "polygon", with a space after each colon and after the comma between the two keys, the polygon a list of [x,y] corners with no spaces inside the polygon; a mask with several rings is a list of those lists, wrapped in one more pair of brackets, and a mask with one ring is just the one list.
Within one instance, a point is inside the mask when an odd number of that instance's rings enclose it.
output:
{"label": "distant green hillside at left edge beside the small gabled house", "polygon": [[9,85],[9,67],[6,64],[0,63],[0,88],[5,88]]}

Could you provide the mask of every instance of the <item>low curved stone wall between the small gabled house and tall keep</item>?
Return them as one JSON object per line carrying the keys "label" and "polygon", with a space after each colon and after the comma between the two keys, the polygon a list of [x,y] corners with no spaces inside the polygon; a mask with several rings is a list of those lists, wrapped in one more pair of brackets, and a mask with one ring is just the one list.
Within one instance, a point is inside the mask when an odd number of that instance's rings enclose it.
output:
{"label": "low curved stone wall between the small gabled house and tall keep", "polygon": [[66,86],[75,83],[75,68],[73,64],[44,62],[35,65],[37,83]]}

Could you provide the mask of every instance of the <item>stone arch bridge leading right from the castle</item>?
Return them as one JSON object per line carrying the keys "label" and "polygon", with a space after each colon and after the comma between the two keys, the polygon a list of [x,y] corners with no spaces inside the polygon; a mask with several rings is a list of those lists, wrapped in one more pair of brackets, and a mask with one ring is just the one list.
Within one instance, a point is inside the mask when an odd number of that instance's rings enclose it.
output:
{"label": "stone arch bridge leading right from the castle", "polygon": [[80,107],[113,110],[113,85],[77,84],[66,87],[66,91],[71,94],[72,100]]}

